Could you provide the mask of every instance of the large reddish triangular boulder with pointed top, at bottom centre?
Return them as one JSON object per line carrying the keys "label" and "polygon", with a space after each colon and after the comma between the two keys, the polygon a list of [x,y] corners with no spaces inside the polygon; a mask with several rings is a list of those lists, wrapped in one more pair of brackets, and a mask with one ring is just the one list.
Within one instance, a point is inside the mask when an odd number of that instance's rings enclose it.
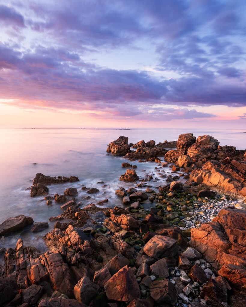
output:
{"label": "large reddish triangular boulder with pointed top, at bottom centre", "polygon": [[140,289],[132,269],[124,266],[104,286],[107,298],[113,301],[130,302],[140,298]]}

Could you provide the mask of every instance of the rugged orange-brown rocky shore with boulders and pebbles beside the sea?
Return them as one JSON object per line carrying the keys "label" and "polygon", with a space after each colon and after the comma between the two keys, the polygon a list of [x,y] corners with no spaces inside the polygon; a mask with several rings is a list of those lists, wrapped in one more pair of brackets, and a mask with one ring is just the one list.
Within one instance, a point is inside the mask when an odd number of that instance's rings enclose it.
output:
{"label": "rugged orange-brown rocky shore with boulders and pebbles beside the sea", "polygon": [[[63,213],[50,217],[46,252],[21,238],[0,250],[0,306],[246,306],[246,150],[189,133],[159,144],[121,136],[107,153],[122,165],[121,206],[107,207],[105,198],[81,208],[77,188],[48,188],[78,177],[36,174],[30,197]],[[153,172],[142,177],[136,160],[153,162]],[[81,190],[88,199],[99,192]],[[39,232],[48,223],[10,217],[0,236],[28,227]]]}

